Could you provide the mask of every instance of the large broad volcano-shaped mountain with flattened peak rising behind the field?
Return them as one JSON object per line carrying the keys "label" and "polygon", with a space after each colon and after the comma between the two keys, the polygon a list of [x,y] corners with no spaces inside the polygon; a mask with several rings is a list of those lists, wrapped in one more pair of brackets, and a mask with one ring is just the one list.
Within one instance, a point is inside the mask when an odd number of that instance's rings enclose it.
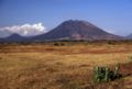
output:
{"label": "large broad volcano-shaped mountain with flattened peak rising behind the field", "polygon": [[33,37],[34,41],[59,41],[59,40],[120,40],[121,36],[110,34],[86,21],[69,20],[46,34]]}

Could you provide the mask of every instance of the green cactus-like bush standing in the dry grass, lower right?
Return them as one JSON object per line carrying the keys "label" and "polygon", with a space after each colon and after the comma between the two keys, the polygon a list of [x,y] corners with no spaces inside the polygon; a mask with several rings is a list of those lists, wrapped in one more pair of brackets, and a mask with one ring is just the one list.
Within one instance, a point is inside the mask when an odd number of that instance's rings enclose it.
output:
{"label": "green cactus-like bush standing in the dry grass, lower right", "polygon": [[94,79],[96,82],[101,81],[111,81],[122,77],[119,74],[120,65],[114,67],[114,70],[111,70],[109,67],[95,67],[94,68]]}

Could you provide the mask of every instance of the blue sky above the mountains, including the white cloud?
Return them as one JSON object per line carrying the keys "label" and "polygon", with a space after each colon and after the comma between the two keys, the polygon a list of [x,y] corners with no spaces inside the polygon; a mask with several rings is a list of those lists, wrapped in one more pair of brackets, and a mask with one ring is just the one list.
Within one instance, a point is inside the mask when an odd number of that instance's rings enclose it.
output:
{"label": "blue sky above the mountains, including the white cloud", "polygon": [[67,20],[85,20],[128,35],[132,33],[132,0],[0,0],[0,37],[43,34]]}

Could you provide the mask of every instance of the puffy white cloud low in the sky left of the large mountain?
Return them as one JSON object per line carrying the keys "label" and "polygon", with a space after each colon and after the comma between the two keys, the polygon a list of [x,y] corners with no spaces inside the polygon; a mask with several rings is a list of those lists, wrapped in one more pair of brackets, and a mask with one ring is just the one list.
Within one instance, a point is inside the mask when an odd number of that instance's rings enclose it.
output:
{"label": "puffy white cloud low in the sky left of the large mountain", "polygon": [[33,35],[38,35],[47,32],[46,27],[42,23],[36,23],[36,24],[26,23],[23,25],[4,26],[4,27],[0,27],[0,31],[2,32],[8,31],[11,34],[18,33],[23,36],[33,36]]}

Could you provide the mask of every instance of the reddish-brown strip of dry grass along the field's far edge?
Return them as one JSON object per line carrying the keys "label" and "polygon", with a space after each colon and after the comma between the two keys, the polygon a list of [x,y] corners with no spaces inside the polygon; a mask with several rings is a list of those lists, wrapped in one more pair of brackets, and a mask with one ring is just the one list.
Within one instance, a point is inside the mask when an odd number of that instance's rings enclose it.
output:
{"label": "reddish-brown strip of dry grass along the field's far edge", "polygon": [[[69,43],[69,42],[68,42]],[[132,45],[107,44],[107,43],[86,43],[76,42],[55,42],[40,44],[7,44],[0,45],[0,53],[57,53],[57,54],[111,54],[111,53],[131,53]],[[57,44],[57,45],[55,45]],[[59,45],[61,44],[61,45]],[[62,45],[63,44],[63,45]]]}

